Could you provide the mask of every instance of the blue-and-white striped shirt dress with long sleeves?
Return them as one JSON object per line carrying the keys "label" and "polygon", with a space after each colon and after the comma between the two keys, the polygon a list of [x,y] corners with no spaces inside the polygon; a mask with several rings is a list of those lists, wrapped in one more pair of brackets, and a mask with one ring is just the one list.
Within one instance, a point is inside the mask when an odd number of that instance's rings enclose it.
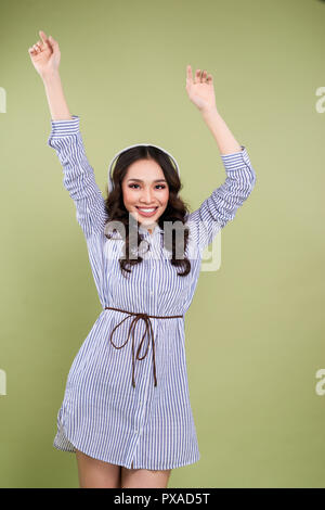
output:
{"label": "blue-and-white striped shirt dress with long sleeves", "polygon": [[[89,254],[89,260],[103,310],[81,344],[69,373],[53,446],[126,468],[165,470],[197,462],[200,455],[190,403],[184,315],[197,284],[202,252],[235,216],[250,194],[256,175],[246,149],[221,155],[226,179],[200,207],[186,218],[196,256],[190,257],[192,270],[186,277],[162,256],[164,231],[153,234],[140,227],[151,250],[126,279],[118,264],[123,241],[107,240],[108,220],[104,199],[96,186],[79,130],[79,117],[51,120],[48,144],[55,149],[63,166],[63,182],[76,204]],[[202,225],[204,222],[204,228]],[[155,316],[181,315],[181,318],[152,318],[155,339],[157,386],[154,386],[153,352],[135,360],[135,387],[132,386],[132,342],[115,348],[109,342],[113,329],[127,314],[105,310],[106,306]],[[134,317],[134,316],[133,316]],[[113,335],[115,345],[128,336],[132,316]],[[145,332],[145,323],[135,327],[135,352]],[[147,344],[143,345],[143,356]]]}

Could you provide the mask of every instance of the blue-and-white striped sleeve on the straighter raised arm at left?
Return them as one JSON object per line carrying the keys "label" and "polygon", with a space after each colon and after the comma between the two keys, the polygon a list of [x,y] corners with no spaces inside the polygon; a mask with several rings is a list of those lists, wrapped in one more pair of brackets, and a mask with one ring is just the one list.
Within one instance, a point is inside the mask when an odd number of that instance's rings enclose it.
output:
{"label": "blue-and-white striped sleeve on the straighter raised arm at left", "polygon": [[63,167],[63,183],[76,205],[76,218],[86,238],[103,232],[107,221],[104,199],[93,168],[86,156],[79,116],[70,120],[52,120],[48,145],[55,149]]}

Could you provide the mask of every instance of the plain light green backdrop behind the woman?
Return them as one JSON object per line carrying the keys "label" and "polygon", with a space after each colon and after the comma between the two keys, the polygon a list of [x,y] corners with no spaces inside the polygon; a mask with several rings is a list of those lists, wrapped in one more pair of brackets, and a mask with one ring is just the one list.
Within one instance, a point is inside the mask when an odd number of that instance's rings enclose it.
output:
{"label": "plain light green backdrop behind the woman", "polygon": [[[200,460],[169,487],[324,487],[325,3],[2,0],[0,486],[78,487],[52,446],[70,365],[101,304],[75,205],[47,145],[50,112],[28,48],[58,40],[72,114],[104,192],[114,154],[140,141],[180,164],[192,211],[225,179],[185,90],[213,76],[217,106],[246,145],[256,187],[222,230],[186,314]],[[324,103],[324,101],[323,101]],[[324,107],[323,107],[324,109]],[[323,386],[324,387],[324,386]]]}

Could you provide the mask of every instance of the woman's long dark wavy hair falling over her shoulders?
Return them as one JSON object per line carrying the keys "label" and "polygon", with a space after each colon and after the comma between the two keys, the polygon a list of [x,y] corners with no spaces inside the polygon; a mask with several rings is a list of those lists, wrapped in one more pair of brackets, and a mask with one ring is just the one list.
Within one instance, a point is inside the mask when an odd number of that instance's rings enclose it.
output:
{"label": "woman's long dark wavy hair falling over her shoulders", "polygon": [[[188,243],[188,227],[185,227],[185,217],[188,213],[188,205],[183,202],[183,200],[179,196],[179,191],[183,188],[181,180],[179,178],[178,171],[173,167],[170,157],[165,152],[160,151],[159,149],[152,146],[152,145],[138,145],[135,148],[128,149],[123,151],[117,158],[115,168],[113,171],[112,180],[114,183],[113,190],[110,193],[108,192],[108,186],[106,184],[106,194],[107,197],[105,199],[105,209],[108,215],[108,221],[105,225],[105,237],[112,241],[114,241],[113,232],[116,231],[114,226],[109,228],[109,224],[114,221],[118,221],[123,225],[125,228],[125,244],[123,244],[123,258],[119,259],[120,269],[123,276],[125,272],[130,273],[131,269],[127,266],[132,267],[136,264],[141,264],[143,258],[141,257],[138,248],[143,240],[143,234],[139,232],[139,228],[136,228],[138,232],[138,241],[136,241],[136,258],[132,255],[130,259],[130,245],[129,245],[129,237],[130,237],[130,225],[129,225],[129,212],[127,211],[123,204],[123,196],[122,196],[122,188],[121,183],[123,178],[127,175],[129,166],[138,160],[155,160],[160,168],[164,171],[165,179],[168,182],[169,187],[169,200],[166,209],[164,211],[162,215],[158,219],[159,227],[164,230],[164,221],[170,221],[171,225],[173,221],[182,222],[183,227],[183,235],[182,235],[182,245],[183,245],[183,253],[181,257],[177,257],[176,254],[180,253],[180,244],[178,243],[178,235],[176,235],[176,231],[172,231],[171,235],[171,243],[168,237],[165,241],[166,250],[171,254],[170,264],[176,267],[180,267],[183,269],[183,272],[178,272],[178,276],[185,277],[191,271],[191,262],[188,258],[185,257],[185,251]],[[131,221],[132,222],[132,221]],[[134,222],[138,221],[134,219]],[[165,233],[165,232],[164,232]],[[165,238],[165,234],[164,234]]]}

